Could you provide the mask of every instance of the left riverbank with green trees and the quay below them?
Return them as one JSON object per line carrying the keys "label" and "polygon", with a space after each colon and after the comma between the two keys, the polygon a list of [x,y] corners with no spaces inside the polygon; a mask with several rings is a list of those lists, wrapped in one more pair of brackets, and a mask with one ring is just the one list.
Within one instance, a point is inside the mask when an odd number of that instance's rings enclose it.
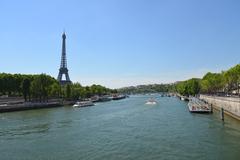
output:
{"label": "left riverbank with green trees and the quay below them", "polygon": [[60,85],[46,74],[0,73],[0,113],[73,105],[93,97],[117,95],[116,90],[101,85],[79,83]]}

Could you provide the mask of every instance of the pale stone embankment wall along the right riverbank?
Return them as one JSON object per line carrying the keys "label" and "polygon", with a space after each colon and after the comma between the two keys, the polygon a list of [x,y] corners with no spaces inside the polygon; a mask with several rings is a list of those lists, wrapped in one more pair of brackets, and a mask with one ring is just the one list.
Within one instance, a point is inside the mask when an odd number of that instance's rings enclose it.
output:
{"label": "pale stone embankment wall along the right riverbank", "polygon": [[224,113],[240,120],[240,98],[200,95],[200,99],[211,104],[217,110],[223,108]]}

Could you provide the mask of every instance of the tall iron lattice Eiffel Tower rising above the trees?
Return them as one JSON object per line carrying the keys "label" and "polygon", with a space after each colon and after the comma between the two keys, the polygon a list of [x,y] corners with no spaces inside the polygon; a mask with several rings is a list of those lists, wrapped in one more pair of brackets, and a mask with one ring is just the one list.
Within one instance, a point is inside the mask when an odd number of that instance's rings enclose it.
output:
{"label": "tall iron lattice Eiffel Tower rising above the trees", "polygon": [[[68,69],[67,69],[67,58],[66,58],[66,34],[65,32],[63,32],[62,34],[62,57],[61,57],[61,66],[59,69],[59,73],[58,73],[58,81],[61,85],[65,85],[65,84],[71,84],[71,80],[69,78],[68,75]],[[66,80],[63,80],[63,74],[66,77]]]}

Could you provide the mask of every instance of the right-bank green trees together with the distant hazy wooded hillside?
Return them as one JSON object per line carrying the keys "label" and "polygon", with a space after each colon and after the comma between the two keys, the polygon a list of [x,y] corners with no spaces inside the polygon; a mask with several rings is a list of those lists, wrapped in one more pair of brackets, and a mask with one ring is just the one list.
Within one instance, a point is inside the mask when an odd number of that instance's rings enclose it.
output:
{"label": "right-bank green trees together with the distant hazy wooded hillside", "polygon": [[145,94],[157,92],[178,93],[183,96],[198,94],[218,96],[240,96],[240,64],[221,73],[206,73],[203,78],[191,78],[172,84],[150,84],[118,89],[123,94]]}

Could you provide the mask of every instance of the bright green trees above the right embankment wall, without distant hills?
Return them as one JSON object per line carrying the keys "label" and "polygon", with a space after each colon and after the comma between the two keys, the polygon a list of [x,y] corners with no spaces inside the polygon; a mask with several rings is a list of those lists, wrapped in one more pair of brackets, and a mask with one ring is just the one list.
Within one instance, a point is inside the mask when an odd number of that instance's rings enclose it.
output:
{"label": "bright green trees above the right embankment wall, without distant hills", "polygon": [[176,92],[182,95],[238,94],[240,84],[240,64],[221,73],[208,72],[202,79],[190,79],[175,84]]}

